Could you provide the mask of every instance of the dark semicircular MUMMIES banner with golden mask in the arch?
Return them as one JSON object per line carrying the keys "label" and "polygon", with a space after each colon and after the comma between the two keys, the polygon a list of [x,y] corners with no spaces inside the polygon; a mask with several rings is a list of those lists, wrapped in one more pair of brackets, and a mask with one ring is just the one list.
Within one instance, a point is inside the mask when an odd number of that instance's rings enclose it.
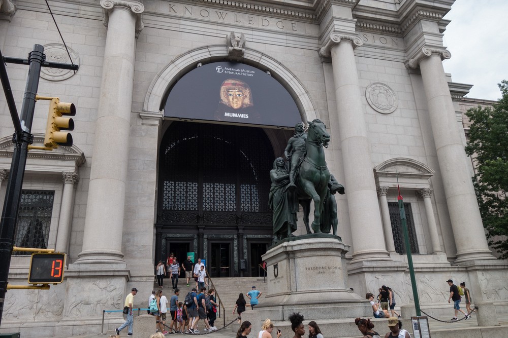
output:
{"label": "dark semicircular MUMMIES banner with golden mask in the arch", "polygon": [[266,72],[243,63],[213,62],[183,76],[164,108],[170,119],[294,127],[295,101]]}

